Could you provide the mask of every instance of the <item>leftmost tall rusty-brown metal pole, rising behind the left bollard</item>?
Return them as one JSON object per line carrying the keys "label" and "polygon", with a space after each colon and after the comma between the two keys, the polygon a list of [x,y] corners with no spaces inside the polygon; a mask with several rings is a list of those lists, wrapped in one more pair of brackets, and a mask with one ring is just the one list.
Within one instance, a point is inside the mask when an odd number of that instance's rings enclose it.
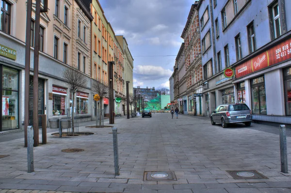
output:
{"label": "leftmost tall rusty-brown metal pole, rising behind the left bollard", "polygon": [[27,0],[26,38],[25,38],[25,77],[24,77],[24,147],[27,147],[27,128],[29,125],[29,72],[30,72],[30,41],[32,25],[32,0]]}

